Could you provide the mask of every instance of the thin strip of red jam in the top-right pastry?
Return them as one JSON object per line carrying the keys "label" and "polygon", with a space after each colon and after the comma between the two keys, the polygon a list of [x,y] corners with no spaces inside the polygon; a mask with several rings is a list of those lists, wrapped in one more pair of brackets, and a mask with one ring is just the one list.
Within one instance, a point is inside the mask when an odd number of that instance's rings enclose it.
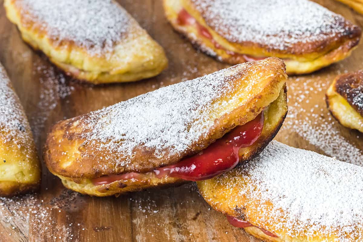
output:
{"label": "thin strip of red jam in the top-right pastry", "polygon": [[[181,11],[179,12],[178,18],[176,19],[176,21],[177,21],[177,23],[179,25],[194,25],[194,24],[196,24],[197,28],[198,28],[198,31],[199,31],[199,34],[201,36],[211,40],[212,43],[214,44],[215,48],[224,49],[220,44],[217,43],[217,41],[215,41],[213,39],[213,36],[208,31],[208,29],[205,28],[204,26],[202,26],[201,24],[199,24],[197,22],[197,20],[193,16],[191,16],[184,8],[181,9]],[[235,52],[233,52],[231,50],[226,50],[226,49],[224,49],[224,50],[226,51],[227,54],[232,55],[232,56],[241,55],[245,59],[245,61],[259,61],[259,60],[263,60],[263,59],[266,58],[266,57],[254,57],[254,56],[249,56],[249,55],[246,55],[246,54],[238,54],[238,53],[235,53]]]}

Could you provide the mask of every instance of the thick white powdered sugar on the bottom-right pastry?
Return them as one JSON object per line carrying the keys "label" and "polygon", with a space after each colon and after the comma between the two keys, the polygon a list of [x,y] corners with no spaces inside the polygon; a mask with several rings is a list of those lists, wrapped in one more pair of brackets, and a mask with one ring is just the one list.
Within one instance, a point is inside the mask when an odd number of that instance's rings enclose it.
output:
{"label": "thick white powdered sugar on the bottom-right pastry", "polygon": [[270,221],[276,232],[311,237],[318,231],[334,234],[334,241],[362,240],[362,167],[272,141],[237,172],[249,181],[240,194],[246,194],[247,203],[258,201],[256,221]]}

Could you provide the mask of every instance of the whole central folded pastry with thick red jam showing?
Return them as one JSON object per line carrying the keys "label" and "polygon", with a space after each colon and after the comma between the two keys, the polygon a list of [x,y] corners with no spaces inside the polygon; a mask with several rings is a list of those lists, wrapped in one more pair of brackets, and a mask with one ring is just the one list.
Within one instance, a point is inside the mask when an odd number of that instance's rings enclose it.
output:
{"label": "whole central folded pastry with thick red jam showing", "polygon": [[67,188],[94,196],[209,179],[273,139],[286,78],[284,62],[267,58],[60,121],[45,163]]}

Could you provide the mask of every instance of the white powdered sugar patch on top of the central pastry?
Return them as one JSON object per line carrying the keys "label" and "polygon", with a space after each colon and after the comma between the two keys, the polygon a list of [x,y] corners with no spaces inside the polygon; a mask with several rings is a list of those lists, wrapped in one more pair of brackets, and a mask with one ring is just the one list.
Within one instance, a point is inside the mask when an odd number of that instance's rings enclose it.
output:
{"label": "white powdered sugar patch on top of the central pastry", "polygon": [[[232,111],[229,103],[250,98],[246,93],[259,82],[258,69],[268,63],[240,64],[92,112],[81,118],[89,130],[81,135],[87,143],[97,140],[99,148],[119,153],[127,162],[140,146],[155,157],[178,156],[207,134],[218,115]],[[246,82],[246,96],[240,97],[234,80],[247,78],[244,73],[250,65],[256,67],[256,79]],[[220,98],[227,93],[232,94],[230,98]]]}

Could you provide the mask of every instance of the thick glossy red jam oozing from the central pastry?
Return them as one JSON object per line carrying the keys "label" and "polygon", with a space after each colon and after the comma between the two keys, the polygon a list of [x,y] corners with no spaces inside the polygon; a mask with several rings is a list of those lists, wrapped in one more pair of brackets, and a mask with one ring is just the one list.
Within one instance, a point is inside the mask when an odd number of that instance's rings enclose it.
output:
{"label": "thick glossy red jam oozing from the central pastry", "polygon": [[130,172],[121,175],[102,176],[92,179],[94,185],[109,184],[119,180],[145,180],[155,175],[176,177],[183,180],[199,181],[218,176],[234,168],[239,162],[239,150],[249,147],[260,137],[264,127],[264,114],[261,112],[252,121],[237,126],[231,132],[216,140],[200,153],[179,163],[155,169],[147,173]]}

